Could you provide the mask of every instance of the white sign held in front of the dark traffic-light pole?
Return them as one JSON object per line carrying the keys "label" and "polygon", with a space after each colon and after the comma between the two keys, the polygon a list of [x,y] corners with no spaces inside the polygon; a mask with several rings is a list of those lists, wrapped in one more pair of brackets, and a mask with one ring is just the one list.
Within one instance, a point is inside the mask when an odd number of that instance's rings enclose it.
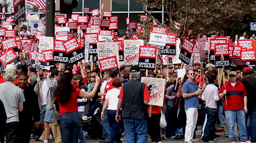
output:
{"label": "white sign held in front of the dark traffic-light pole", "polygon": [[38,52],[53,49],[53,37],[40,36]]}

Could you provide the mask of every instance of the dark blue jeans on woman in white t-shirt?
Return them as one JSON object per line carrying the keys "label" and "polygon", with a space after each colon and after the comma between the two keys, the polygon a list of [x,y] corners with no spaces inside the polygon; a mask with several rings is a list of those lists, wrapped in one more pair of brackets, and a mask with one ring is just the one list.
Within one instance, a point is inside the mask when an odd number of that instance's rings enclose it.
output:
{"label": "dark blue jeans on woman in white t-shirt", "polygon": [[121,127],[121,122],[116,122],[116,110],[107,110],[106,111],[109,117],[110,129],[111,129],[111,137],[110,143],[122,142],[119,136],[119,130]]}

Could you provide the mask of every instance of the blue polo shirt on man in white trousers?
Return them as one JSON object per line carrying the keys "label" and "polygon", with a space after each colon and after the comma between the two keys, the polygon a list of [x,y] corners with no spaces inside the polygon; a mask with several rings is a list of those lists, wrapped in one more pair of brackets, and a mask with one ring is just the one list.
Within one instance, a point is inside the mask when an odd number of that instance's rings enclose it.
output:
{"label": "blue polo shirt on man in white trousers", "polygon": [[[182,93],[194,93],[198,89],[196,82],[190,82],[187,80],[182,86]],[[198,96],[193,96],[190,98],[184,98],[185,100],[185,110],[188,108],[197,108],[199,107]]]}

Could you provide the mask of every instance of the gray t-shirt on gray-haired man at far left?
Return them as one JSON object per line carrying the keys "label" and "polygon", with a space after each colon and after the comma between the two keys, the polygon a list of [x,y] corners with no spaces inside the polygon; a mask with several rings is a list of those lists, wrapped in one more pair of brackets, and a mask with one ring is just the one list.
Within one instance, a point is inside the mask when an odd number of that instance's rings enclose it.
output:
{"label": "gray t-shirt on gray-haired man at far left", "polygon": [[6,123],[18,122],[18,104],[25,102],[22,89],[13,83],[0,84],[0,99],[3,101],[7,115]]}

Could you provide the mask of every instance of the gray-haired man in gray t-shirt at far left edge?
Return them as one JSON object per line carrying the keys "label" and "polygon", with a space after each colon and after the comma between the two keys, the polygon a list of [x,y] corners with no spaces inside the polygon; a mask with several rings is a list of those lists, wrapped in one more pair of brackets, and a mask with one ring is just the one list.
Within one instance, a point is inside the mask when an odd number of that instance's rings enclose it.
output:
{"label": "gray-haired man in gray t-shirt at far left edge", "polygon": [[17,142],[19,129],[18,111],[23,111],[25,97],[22,89],[13,84],[16,70],[7,68],[4,74],[5,82],[0,84],[0,100],[4,103],[7,120],[4,127],[6,142]]}

